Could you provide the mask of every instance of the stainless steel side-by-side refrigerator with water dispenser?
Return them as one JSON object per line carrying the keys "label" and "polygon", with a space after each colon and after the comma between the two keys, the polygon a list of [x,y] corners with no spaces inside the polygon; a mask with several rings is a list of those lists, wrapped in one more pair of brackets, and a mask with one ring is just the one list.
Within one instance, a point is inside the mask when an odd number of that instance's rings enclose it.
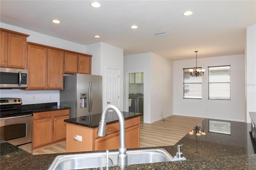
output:
{"label": "stainless steel side-by-side refrigerator with water dispenser", "polygon": [[70,118],[102,113],[102,76],[65,75],[60,105],[70,107]]}

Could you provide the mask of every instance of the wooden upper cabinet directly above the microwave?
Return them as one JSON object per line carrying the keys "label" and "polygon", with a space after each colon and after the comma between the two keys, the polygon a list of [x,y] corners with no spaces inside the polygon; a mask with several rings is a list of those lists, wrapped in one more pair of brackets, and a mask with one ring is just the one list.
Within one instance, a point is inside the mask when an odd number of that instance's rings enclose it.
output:
{"label": "wooden upper cabinet directly above the microwave", "polygon": [[0,28],[0,67],[26,69],[26,42],[29,35]]}

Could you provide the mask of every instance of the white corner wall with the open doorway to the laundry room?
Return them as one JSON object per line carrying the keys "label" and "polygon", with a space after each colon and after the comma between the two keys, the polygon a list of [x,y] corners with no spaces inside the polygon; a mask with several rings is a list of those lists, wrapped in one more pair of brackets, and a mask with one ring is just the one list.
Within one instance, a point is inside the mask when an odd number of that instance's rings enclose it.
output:
{"label": "white corner wall with the open doorway to the laundry room", "polygon": [[144,122],[172,115],[172,61],[154,53],[124,56],[124,107],[128,110],[128,73],[144,72]]}

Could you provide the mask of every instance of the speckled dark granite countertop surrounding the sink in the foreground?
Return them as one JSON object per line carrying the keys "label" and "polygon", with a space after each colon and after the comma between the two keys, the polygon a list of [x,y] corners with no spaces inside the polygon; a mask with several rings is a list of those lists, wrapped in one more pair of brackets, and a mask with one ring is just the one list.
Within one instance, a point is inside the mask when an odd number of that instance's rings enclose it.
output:
{"label": "speckled dark granite countertop surrounding the sink in the foreground", "polygon": [[[220,121],[223,123],[223,121]],[[152,164],[128,165],[124,168],[120,166],[110,166],[109,170],[169,170],[169,169],[256,169],[256,154],[253,150],[250,138],[250,123],[224,121],[226,129],[214,132],[210,119],[204,119],[200,126],[204,128],[206,135],[196,136],[186,134],[175,146],[160,146],[150,148],[164,148],[172,156],[177,152],[177,145],[182,146],[182,152],[187,160],[174,162],[159,162]],[[226,133],[226,134],[224,134]],[[228,133],[228,134],[227,134]],[[166,132],[168,135],[168,132]],[[139,148],[148,149],[148,148]],[[128,149],[130,150],[130,149]],[[3,169],[47,169],[54,158],[63,154],[42,154],[32,155],[7,142],[1,143],[1,170]],[[110,150],[117,151],[117,150]],[[93,151],[100,152],[100,151]],[[90,153],[90,152],[76,152]],[[93,169],[93,168],[91,168]],[[99,168],[94,168],[99,169]],[[105,167],[102,169],[106,170]]]}

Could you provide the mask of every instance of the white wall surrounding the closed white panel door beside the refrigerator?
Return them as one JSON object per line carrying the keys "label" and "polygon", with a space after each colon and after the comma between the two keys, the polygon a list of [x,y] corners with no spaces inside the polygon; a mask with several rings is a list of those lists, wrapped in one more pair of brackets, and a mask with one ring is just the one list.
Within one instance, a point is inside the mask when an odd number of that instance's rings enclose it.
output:
{"label": "white wall surrounding the closed white panel door beside the refrigerator", "polygon": [[123,49],[108,45],[103,42],[98,42],[86,45],[86,53],[93,55],[92,57],[92,74],[102,75],[102,108],[106,107],[106,69],[119,69],[120,71],[120,110],[123,111],[123,65],[124,65],[124,52]]}

